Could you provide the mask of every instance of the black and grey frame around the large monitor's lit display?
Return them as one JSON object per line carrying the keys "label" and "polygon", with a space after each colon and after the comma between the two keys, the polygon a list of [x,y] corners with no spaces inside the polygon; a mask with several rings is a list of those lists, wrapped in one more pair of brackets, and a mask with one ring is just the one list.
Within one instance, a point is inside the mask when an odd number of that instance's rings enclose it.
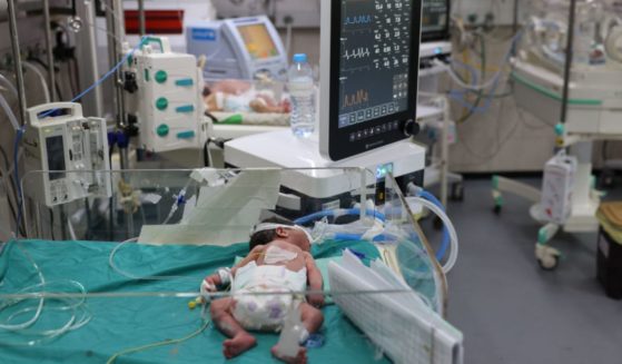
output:
{"label": "black and grey frame around the large monitor's lit display", "polygon": [[[421,21],[422,1],[412,0],[413,24],[411,38],[411,65],[408,75],[408,105],[406,110],[393,115],[381,117],[339,128],[339,67],[340,67],[340,22],[342,22],[342,1],[323,1],[323,27],[322,27],[322,100],[320,107],[320,130],[319,147],[320,154],[330,160],[342,160],[356,155],[361,155],[386,145],[408,138],[404,132],[404,126],[408,120],[416,119],[418,70],[419,70],[419,43],[421,43]],[[329,8],[329,9],[325,9]],[[332,37],[333,31],[337,31],[336,37]],[[325,58],[326,55],[329,57]],[[337,81],[332,81],[337,80]],[[351,135],[364,131],[365,129],[382,127],[388,124],[398,124],[396,129],[384,131],[381,135],[366,137],[362,140],[351,141]]]}

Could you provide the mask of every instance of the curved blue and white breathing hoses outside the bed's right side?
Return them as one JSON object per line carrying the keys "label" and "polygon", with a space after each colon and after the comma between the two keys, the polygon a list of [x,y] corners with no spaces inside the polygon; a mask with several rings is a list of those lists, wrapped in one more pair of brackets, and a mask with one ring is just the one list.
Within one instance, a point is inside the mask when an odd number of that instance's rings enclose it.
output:
{"label": "curved blue and white breathing hoses outside the bed's right side", "polygon": [[441,262],[441,259],[445,256],[447,248],[451,246],[450,257],[447,258],[447,263],[443,266],[443,272],[448,273],[452,270],[457,260],[458,242],[456,230],[447,214],[445,214],[443,204],[441,204],[434,195],[414,184],[408,185],[408,193],[414,197],[408,197],[406,199],[407,201],[421,204],[424,207],[427,207],[436,216],[438,216],[441,220],[443,220],[443,242],[441,243],[441,248],[436,252],[436,259]]}

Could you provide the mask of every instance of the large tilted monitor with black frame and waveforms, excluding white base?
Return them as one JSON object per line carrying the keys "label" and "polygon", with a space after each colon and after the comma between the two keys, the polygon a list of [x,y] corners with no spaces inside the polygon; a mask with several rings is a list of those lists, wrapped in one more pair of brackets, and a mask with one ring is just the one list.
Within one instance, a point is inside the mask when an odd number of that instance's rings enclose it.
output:
{"label": "large tilted monitor with black frame and waveforms, excluding white base", "polygon": [[324,1],[319,146],[345,159],[418,131],[421,2]]}

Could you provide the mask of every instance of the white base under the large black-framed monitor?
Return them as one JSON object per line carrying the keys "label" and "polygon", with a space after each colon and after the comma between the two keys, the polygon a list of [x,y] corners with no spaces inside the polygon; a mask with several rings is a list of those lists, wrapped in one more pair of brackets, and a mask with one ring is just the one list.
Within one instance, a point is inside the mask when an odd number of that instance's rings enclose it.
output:
{"label": "white base under the large black-framed monitor", "polygon": [[[319,155],[316,135],[306,139],[297,138],[289,129],[285,129],[227,142],[225,164],[237,168],[299,168],[285,174],[282,184],[305,196],[328,198],[361,187],[361,180],[353,180],[352,174],[347,175],[339,168],[369,169],[367,185],[376,183],[377,169],[389,164],[395,177],[421,173],[423,178],[425,148],[403,140],[348,159],[332,161]],[[353,183],[358,186],[353,186]]]}

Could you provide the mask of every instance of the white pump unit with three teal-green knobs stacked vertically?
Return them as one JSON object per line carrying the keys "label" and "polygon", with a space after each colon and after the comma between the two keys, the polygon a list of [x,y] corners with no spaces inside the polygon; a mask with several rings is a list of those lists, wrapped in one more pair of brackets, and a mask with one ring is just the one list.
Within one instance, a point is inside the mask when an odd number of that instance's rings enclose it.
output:
{"label": "white pump unit with three teal-green knobs stacked vertically", "polygon": [[140,147],[155,153],[203,147],[203,76],[194,56],[172,52],[168,38],[150,37],[128,59],[124,78],[128,121],[138,125]]}

